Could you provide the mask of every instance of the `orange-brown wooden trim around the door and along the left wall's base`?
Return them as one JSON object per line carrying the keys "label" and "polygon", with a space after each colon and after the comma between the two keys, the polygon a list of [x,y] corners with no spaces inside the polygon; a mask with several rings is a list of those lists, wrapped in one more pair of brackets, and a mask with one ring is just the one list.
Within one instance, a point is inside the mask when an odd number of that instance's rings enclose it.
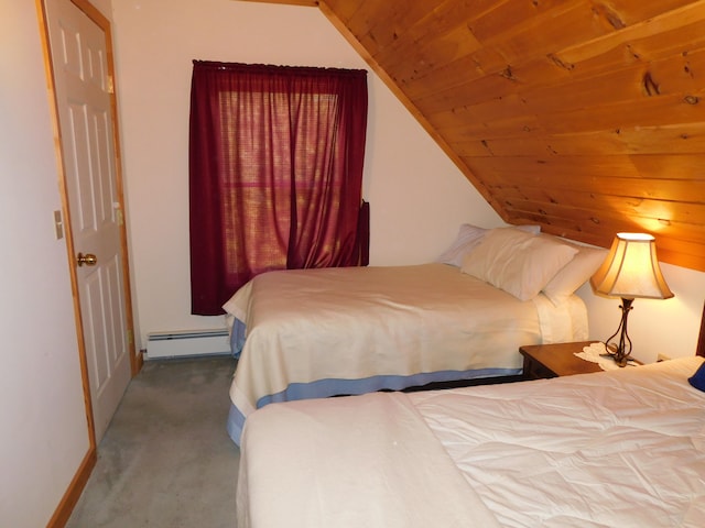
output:
{"label": "orange-brown wooden trim around the door and along the left wall's base", "polygon": [[[120,132],[118,127],[118,105],[115,89],[115,63],[112,53],[112,32],[110,28],[110,21],[96,9],[88,0],[69,0],[80,11],[83,11],[98,28],[100,28],[106,35],[106,52],[107,52],[107,65],[108,76],[111,84],[110,89],[110,114],[112,119],[112,135],[113,135],[113,155],[116,164],[116,199],[119,204],[119,213],[122,216],[120,223],[120,251],[122,252],[122,295],[124,298],[126,309],[126,326],[128,330],[127,345],[128,354],[130,356],[130,371],[134,376],[142,367],[142,354],[138,354],[134,342],[134,322],[132,317],[132,295],[129,271],[129,253],[128,253],[128,238],[127,238],[127,218],[124,213],[124,194],[122,185],[122,160],[120,154]],[[78,274],[76,271],[75,261],[75,248],[74,237],[70,223],[70,207],[68,202],[68,191],[66,185],[66,169],[64,164],[64,151],[63,140],[59,128],[59,112],[58,101],[56,100],[56,86],[54,82],[54,66],[52,62],[52,52],[50,46],[50,31],[48,20],[46,15],[45,0],[35,0],[40,35],[42,40],[42,51],[44,55],[44,68],[46,75],[46,89],[48,95],[50,113],[52,120],[52,128],[54,133],[54,151],[56,156],[56,169],[58,176],[58,189],[62,201],[62,215],[63,215],[63,228],[64,237],[66,239],[66,255],[68,258],[68,271],[70,277],[70,287],[74,301],[74,319],[76,322],[76,337],[78,342],[78,360],[80,364],[80,377],[84,392],[84,403],[86,419],[88,425],[88,451],[85,454],[74,479],[72,480],[68,488],[64,493],[61,503],[58,504],[54,515],[50,519],[48,527],[63,527],[68,520],[70,513],[73,512],[80,494],[83,493],[86,482],[90,476],[90,473],[97,461],[97,446],[96,446],[96,432],[93,418],[93,402],[90,397],[90,382],[88,377],[88,363],[86,359],[86,343],[84,338],[84,323],[80,311],[79,302],[79,289],[78,289]]]}

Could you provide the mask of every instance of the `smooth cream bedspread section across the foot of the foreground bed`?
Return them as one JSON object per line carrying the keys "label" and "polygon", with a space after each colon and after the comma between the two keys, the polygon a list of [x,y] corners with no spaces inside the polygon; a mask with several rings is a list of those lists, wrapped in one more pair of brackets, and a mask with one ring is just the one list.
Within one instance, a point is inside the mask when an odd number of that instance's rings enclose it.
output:
{"label": "smooth cream bedspread section across the foot of the foreground bed", "polygon": [[499,526],[409,399],[380,396],[273,404],[248,418],[237,526]]}

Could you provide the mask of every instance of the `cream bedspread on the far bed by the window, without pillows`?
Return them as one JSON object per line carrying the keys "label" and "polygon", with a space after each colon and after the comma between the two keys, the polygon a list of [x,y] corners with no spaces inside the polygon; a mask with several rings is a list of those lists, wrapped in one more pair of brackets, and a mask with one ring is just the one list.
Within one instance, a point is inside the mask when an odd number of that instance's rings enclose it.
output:
{"label": "cream bedspread on the far bed by the window, without pillows", "polygon": [[242,416],[292,384],[518,372],[520,344],[587,336],[577,297],[561,309],[542,295],[522,302],[444,264],[270,272],[226,310],[247,326],[230,389]]}

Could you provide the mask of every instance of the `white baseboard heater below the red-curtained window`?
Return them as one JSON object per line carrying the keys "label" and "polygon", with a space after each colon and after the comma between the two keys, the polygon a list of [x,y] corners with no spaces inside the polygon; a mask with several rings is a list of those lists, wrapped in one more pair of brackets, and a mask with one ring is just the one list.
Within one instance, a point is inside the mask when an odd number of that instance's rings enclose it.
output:
{"label": "white baseboard heater below the red-curtained window", "polygon": [[229,354],[227,330],[154,332],[148,336],[147,358],[187,358],[189,355]]}

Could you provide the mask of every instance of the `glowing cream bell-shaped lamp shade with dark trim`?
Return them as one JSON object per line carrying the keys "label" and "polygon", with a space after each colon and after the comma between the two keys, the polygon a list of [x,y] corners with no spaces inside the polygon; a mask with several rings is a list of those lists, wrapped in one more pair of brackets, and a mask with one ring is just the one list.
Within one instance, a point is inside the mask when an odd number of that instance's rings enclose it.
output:
{"label": "glowing cream bell-shaped lamp shade with dark trim", "polygon": [[625,299],[673,297],[659,267],[655,239],[646,233],[617,233],[590,285],[598,294]]}

